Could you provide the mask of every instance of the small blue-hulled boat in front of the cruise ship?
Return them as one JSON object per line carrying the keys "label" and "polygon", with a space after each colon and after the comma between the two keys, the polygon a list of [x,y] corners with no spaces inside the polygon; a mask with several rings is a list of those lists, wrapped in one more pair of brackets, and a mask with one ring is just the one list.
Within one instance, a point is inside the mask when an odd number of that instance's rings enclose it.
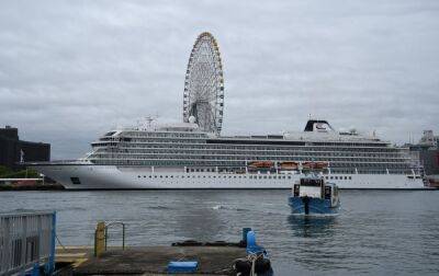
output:
{"label": "small blue-hulled boat in front of the cruise ship", "polygon": [[289,205],[293,215],[334,215],[340,207],[338,187],[317,175],[302,177],[293,185]]}

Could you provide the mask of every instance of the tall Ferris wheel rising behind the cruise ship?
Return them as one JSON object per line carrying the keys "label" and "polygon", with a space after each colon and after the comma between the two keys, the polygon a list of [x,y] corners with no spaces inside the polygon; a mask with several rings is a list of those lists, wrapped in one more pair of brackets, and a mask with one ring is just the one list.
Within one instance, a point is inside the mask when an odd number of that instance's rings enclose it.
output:
{"label": "tall Ferris wheel rising behind the cruise ship", "polygon": [[184,80],[183,120],[219,134],[223,124],[224,79],[219,48],[210,33],[193,45]]}

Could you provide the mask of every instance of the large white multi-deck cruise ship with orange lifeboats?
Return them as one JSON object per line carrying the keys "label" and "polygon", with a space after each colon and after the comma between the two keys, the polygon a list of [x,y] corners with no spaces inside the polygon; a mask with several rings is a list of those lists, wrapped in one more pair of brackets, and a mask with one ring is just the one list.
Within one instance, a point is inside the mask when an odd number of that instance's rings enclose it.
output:
{"label": "large white multi-deck cruise ship with orange lifeboats", "polygon": [[318,164],[340,188],[420,189],[408,148],[309,119],[304,131],[219,136],[195,123],[117,128],[71,162],[34,163],[71,189],[291,188]]}

